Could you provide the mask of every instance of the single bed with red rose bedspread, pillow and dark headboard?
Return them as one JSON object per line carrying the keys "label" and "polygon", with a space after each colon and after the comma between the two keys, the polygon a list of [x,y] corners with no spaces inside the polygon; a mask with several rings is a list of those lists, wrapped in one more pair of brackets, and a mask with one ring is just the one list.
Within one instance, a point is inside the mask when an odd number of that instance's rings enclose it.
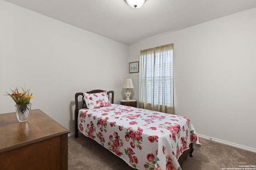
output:
{"label": "single bed with red rose bedspread, pillow and dark headboard", "polygon": [[114,104],[114,91],[76,93],[75,103],[75,138],[80,131],[138,170],[181,170],[201,145],[188,118]]}

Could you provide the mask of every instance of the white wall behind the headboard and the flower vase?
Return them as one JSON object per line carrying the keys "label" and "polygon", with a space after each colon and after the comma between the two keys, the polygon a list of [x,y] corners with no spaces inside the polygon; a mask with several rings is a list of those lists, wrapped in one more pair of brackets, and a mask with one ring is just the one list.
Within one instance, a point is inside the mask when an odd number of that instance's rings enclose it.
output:
{"label": "white wall behind the headboard and the flower vase", "polygon": [[5,92],[30,88],[41,109],[74,132],[74,95],[114,90],[123,99],[128,46],[0,0],[0,113],[15,111]]}

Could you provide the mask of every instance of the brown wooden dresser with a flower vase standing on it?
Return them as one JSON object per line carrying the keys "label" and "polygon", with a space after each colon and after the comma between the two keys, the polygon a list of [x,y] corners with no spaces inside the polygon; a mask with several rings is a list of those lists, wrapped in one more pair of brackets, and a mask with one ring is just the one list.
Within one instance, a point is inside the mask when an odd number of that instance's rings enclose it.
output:
{"label": "brown wooden dresser with a flower vase standing on it", "polygon": [[68,133],[39,109],[0,114],[0,170],[68,170]]}

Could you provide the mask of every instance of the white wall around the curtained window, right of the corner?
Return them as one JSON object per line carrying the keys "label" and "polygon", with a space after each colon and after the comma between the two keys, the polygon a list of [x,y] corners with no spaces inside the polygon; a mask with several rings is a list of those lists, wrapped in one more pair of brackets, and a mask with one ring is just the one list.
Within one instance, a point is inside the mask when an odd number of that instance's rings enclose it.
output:
{"label": "white wall around the curtained window, right of the corner", "polygon": [[[256,8],[130,45],[128,60],[168,43],[176,114],[200,135],[256,150]],[[129,76],[138,100],[139,74]]]}

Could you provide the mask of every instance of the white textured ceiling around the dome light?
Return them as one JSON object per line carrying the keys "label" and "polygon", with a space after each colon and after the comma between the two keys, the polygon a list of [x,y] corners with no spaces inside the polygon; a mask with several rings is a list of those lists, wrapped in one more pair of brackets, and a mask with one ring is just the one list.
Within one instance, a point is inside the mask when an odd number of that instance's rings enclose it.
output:
{"label": "white textured ceiling around the dome light", "polygon": [[156,35],[256,7],[256,0],[5,0],[130,45]]}

